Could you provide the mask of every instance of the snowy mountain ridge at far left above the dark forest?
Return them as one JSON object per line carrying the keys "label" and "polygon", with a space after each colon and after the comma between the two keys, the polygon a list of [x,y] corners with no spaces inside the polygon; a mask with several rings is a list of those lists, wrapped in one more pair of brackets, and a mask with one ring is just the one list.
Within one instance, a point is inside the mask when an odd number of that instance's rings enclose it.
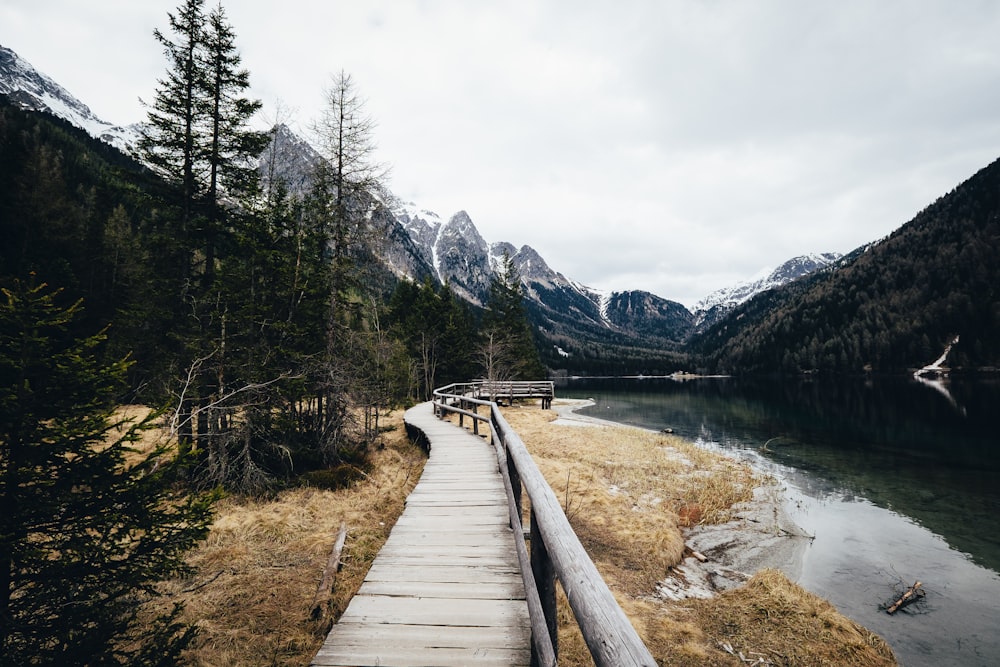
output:
{"label": "snowy mountain ridge at far left above the dark forest", "polygon": [[139,140],[138,124],[121,126],[101,120],[90,107],[4,46],[0,46],[0,95],[23,109],[48,111],[124,153],[131,153]]}

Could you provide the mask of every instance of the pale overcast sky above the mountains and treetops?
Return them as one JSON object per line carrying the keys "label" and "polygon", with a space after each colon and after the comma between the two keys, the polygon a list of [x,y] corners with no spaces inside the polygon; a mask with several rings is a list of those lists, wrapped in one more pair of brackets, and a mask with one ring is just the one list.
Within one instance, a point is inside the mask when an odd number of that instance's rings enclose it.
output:
{"label": "pale overcast sky above the mountains and treetops", "polygon": [[[178,4],[3,0],[0,44],[127,124]],[[692,306],[1000,156],[991,0],[223,4],[266,119],[307,130],[343,69],[400,198],[600,289]]]}

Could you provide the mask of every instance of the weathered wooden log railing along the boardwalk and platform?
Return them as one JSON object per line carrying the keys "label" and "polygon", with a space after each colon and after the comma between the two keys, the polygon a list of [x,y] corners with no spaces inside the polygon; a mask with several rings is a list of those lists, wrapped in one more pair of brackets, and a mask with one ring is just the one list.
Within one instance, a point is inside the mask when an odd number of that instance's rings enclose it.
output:
{"label": "weathered wooden log railing along the boardwalk and platform", "polygon": [[[515,384],[518,387],[508,386]],[[497,389],[508,391],[496,392]],[[547,401],[543,395],[545,391],[549,392]],[[456,413],[460,425],[465,417],[469,417],[476,434],[479,434],[480,422],[490,426],[507,490],[511,528],[518,536],[515,545],[531,618],[532,664],[545,667],[556,665],[559,644],[555,581],[558,579],[597,667],[656,665],[649,649],[580,544],[555,493],[531,459],[524,442],[500,414],[497,402],[482,398],[498,395],[503,398],[513,395],[542,398],[543,405],[550,405],[554,389],[551,382],[453,384],[434,391],[434,413],[439,417],[449,412]],[[486,415],[479,414],[480,406],[487,408]],[[530,557],[523,539],[524,493],[527,493],[530,502]]]}

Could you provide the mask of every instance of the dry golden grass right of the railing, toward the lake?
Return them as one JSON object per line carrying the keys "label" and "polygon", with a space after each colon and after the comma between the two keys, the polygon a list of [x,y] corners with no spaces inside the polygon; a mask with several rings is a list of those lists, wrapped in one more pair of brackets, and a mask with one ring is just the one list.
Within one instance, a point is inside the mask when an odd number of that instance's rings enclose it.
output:
{"label": "dry golden grass right of the railing, toward the lake", "polygon": [[[896,664],[880,637],[774,570],[709,600],[656,597],[682,559],[683,527],[728,521],[765,482],[748,466],[673,436],[554,425],[531,407],[504,414],[660,664]],[[592,665],[562,595],[559,624],[560,665]]]}

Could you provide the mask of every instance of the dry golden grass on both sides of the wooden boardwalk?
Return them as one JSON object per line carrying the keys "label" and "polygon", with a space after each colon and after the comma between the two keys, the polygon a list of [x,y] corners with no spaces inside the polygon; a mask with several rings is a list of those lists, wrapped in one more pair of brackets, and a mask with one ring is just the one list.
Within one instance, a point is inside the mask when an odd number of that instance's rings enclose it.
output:
{"label": "dry golden grass on both sides of the wooden boardwalk", "polygon": [[[551,411],[534,407],[505,414],[661,664],[895,664],[879,637],[773,570],[707,600],[657,594],[684,555],[684,527],[728,520],[762,482],[748,467],[661,434],[555,425]],[[424,456],[406,441],[401,418],[390,418],[396,428],[348,489],[222,501],[211,535],[191,556],[197,575],[166,583],[165,601],[183,601],[186,620],[200,629],[186,664],[309,663],[419,478]],[[349,532],[331,614],[315,620],[316,586],[341,522]],[[560,665],[592,664],[561,604]]]}

